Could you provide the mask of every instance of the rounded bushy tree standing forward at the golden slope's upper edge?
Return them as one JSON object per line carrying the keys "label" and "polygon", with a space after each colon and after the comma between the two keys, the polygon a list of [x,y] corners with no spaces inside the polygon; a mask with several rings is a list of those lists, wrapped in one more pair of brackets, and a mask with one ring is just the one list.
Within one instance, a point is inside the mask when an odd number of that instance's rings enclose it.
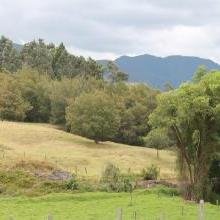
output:
{"label": "rounded bushy tree standing forward at the golden slope's upper edge", "polygon": [[91,138],[96,143],[112,139],[119,126],[113,101],[101,91],[84,93],[70,101],[66,120],[71,132]]}

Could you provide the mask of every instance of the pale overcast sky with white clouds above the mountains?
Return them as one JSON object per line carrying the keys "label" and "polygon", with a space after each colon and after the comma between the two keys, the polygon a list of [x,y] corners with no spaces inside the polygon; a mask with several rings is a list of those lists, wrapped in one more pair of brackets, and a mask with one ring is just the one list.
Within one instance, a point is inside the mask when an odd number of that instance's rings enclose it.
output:
{"label": "pale overcast sky with white clouds above the mountains", "polygon": [[0,35],[75,55],[190,55],[220,63],[220,0],[0,0]]}

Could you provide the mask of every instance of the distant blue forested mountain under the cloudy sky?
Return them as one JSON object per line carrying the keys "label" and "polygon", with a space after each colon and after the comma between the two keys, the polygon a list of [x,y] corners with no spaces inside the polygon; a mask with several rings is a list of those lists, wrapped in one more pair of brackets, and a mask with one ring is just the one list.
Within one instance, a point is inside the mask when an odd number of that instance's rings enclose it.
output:
{"label": "distant blue forested mountain under the cloudy sky", "polygon": [[[106,64],[107,60],[99,60]],[[163,87],[170,82],[179,86],[181,82],[190,80],[200,65],[209,70],[220,69],[220,65],[209,59],[191,56],[156,57],[140,55],[135,57],[122,56],[114,61],[118,67],[129,74],[129,81],[146,82],[155,87]]]}

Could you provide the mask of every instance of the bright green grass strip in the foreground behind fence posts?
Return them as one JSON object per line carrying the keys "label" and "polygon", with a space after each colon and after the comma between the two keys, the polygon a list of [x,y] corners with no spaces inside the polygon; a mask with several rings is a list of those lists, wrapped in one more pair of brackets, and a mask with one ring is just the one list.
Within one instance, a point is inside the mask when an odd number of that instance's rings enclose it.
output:
{"label": "bright green grass strip in the foreground behind fence posts", "polygon": [[[48,214],[55,220],[113,220],[116,210],[123,209],[123,219],[198,219],[198,205],[180,197],[153,191],[135,191],[133,204],[128,193],[51,194],[44,197],[0,198],[0,219],[39,220]],[[205,219],[220,219],[220,208],[206,203]]]}

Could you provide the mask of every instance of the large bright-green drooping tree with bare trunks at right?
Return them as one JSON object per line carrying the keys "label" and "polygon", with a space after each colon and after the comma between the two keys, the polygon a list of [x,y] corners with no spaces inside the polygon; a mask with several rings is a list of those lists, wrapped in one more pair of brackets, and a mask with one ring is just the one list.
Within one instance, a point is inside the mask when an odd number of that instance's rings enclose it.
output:
{"label": "large bright-green drooping tree with bare trunks at right", "polygon": [[178,149],[181,177],[188,182],[187,197],[207,198],[211,158],[219,150],[220,73],[199,83],[183,84],[163,93],[150,116],[154,128],[169,129]]}

